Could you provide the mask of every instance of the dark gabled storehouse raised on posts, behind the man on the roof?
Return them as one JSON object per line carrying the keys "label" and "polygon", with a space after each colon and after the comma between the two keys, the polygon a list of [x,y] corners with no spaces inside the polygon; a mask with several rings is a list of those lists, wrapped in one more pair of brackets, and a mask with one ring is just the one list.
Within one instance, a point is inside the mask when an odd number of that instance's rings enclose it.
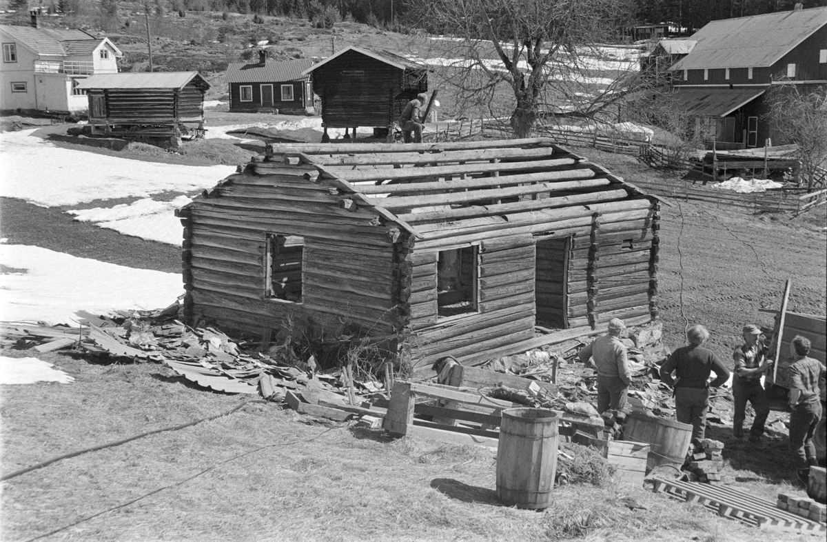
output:
{"label": "dark gabled storehouse raised on posts, behind the man on the roof", "polygon": [[323,142],[327,128],[355,133],[374,127],[390,134],[405,104],[428,90],[428,68],[386,50],[347,47],[304,73],[322,98]]}

